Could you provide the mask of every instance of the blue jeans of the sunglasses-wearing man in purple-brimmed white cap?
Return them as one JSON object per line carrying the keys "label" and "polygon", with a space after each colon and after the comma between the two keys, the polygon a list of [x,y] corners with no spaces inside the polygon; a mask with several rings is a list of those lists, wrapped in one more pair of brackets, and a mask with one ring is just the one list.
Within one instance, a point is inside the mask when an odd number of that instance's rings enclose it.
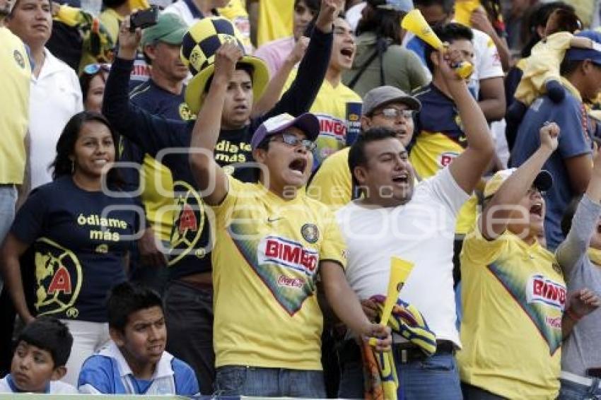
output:
{"label": "blue jeans of the sunglasses-wearing man in purple-brimmed white cap", "polygon": [[322,371],[287,370],[228,365],[218,367],[218,396],[269,396],[325,398]]}

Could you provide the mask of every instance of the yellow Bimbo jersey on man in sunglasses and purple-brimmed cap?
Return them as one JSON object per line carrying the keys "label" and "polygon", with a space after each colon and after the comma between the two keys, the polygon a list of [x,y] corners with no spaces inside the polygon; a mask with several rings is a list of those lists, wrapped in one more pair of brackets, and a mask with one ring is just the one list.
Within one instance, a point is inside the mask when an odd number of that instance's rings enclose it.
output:
{"label": "yellow Bimbo jersey on man in sunglasses and purple-brimmed cap", "polygon": [[228,177],[213,207],[216,367],[321,370],[319,262],[346,266],[334,214],[301,193],[284,201]]}

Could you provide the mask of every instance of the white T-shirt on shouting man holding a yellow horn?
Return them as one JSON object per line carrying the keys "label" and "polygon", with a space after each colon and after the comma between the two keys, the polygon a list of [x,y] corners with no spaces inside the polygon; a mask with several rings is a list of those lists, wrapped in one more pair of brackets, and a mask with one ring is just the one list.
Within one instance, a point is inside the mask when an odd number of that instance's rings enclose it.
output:
{"label": "white T-shirt on shouting man holding a yellow horn", "polygon": [[361,299],[386,295],[393,255],[415,264],[400,293],[417,307],[437,339],[460,346],[455,327],[455,220],[469,195],[448,168],[420,182],[404,206],[366,208],[351,202],[336,216],[346,240],[346,279]]}

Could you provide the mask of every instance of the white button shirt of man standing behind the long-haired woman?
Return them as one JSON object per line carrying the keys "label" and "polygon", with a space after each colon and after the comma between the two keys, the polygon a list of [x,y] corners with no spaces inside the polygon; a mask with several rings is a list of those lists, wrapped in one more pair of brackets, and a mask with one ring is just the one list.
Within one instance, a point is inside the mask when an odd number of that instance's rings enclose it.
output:
{"label": "white button shirt of man standing behind the long-haired woman", "polygon": [[83,111],[81,88],[70,66],[44,49],[40,76],[31,75],[29,134],[31,188],[52,181],[49,165],[57,155],[57,141],[69,119]]}

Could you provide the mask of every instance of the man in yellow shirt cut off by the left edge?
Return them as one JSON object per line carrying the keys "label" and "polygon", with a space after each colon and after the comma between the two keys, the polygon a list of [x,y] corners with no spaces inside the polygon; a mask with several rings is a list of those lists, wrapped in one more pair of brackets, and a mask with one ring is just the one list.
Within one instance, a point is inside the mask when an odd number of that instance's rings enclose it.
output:
{"label": "man in yellow shirt cut off by the left edge", "polygon": [[[21,39],[4,27],[13,2],[0,0],[0,242],[11,228],[17,201],[16,185],[25,175],[25,135],[29,123],[31,65]],[[0,280],[0,292],[3,282]]]}

